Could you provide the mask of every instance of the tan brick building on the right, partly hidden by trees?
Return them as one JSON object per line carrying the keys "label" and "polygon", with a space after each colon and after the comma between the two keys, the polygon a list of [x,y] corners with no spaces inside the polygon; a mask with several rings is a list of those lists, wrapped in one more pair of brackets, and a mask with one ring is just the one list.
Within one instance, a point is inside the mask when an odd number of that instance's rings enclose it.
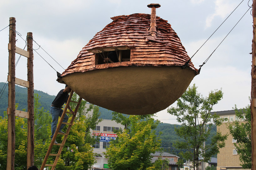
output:
{"label": "tan brick building on the right, partly hidden by trees", "polygon": [[235,116],[235,110],[218,111],[212,112],[211,114],[214,113],[218,114],[221,118],[228,119],[228,121],[223,122],[220,126],[217,127],[217,131],[220,131],[222,134],[228,134],[228,138],[225,141],[225,147],[221,148],[217,154],[217,170],[242,170],[242,166],[240,165],[241,161],[239,160],[239,155],[234,146],[236,140],[230,134],[228,129],[230,122],[237,120]]}

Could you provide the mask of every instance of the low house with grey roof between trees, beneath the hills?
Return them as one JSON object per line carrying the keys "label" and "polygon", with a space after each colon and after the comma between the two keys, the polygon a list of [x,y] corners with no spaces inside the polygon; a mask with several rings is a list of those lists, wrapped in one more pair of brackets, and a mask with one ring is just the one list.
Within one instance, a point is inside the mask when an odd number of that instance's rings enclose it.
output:
{"label": "low house with grey roof between trees, beneath the hills", "polygon": [[169,168],[166,169],[166,170],[178,170],[178,165],[177,165],[177,162],[178,162],[178,156],[174,155],[174,154],[171,154],[171,153],[168,153],[168,152],[156,152],[156,153],[152,153],[151,155],[153,155],[153,158],[152,158],[152,162],[155,162],[156,159],[158,159],[159,157],[161,159],[168,159],[169,160]]}

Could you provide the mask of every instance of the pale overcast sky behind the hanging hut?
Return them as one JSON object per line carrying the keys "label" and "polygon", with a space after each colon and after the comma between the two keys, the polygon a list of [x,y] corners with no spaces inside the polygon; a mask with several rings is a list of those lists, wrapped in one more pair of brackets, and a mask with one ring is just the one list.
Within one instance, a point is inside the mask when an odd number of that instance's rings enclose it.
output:
{"label": "pale overcast sky behind the hanging hut", "polygon": [[[79,51],[93,36],[112,22],[110,17],[133,13],[151,13],[150,3],[159,3],[156,15],[171,24],[191,57],[207,38],[219,27],[242,0],[10,0],[0,1],[0,30],[9,25],[9,18],[16,18],[16,31],[23,39],[33,32],[33,39],[64,69],[77,57]],[[199,65],[215,50],[223,38],[252,5],[252,0],[243,1],[226,22],[192,58]],[[251,92],[251,52],[253,19],[251,9],[213,53],[191,82],[198,92],[207,96],[211,90],[221,89],[223,99],[213,111],[231,110],[235,104],[243,108],[249,104]],[[8,27],[0,32],[1,74],[0,82],[8,75]],[[16,35],[16,46],[24,48],[25,41]],[[33,48],[38,49],[33,42]],[[60,67],[41,48],[37,52],[62,73]],[[16,61],[19,55],[16,55]],[[26,58],[21,57],[16,67],[16,77],[27,79]],[[56,72],[34,51],[34,89],[57,95],[64,88],[56,81]],[[6,89],[7,90],[7,89]],[[0,101],[1,102],[1,101]],[[172,104],[175,106],[175,103]],[[167,109],[157,113],[164,123],[175,124],[176,120]]]}

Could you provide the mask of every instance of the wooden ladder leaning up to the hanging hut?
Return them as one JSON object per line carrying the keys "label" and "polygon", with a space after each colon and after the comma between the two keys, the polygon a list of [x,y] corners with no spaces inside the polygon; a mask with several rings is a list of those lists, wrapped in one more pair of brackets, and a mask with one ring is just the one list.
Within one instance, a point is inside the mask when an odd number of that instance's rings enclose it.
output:
{"label": "wooden ladder leaning up to the hanging hut", "polygon": [[[63,114],[62,114],[62,116],[61,116],[61,118],[60,118],[60,120],[59,120],[59,124],[58,124],[58,126],[57,126],[57,128],[56,128],[56,131],[55,131],[55,133],[54,133],[53,139],[52,139],[52,141],[51,141],[51,143],[50,143],[50,146],[49,146],[49,148],[48,148],[48,150],[47,150],[47,153],[46,153],[46,155],[45,155],[45,157],[44,157],[44,161],[43,161],[43,164],[42,164],[40,170],[44,170],[44,167],[52,167],[51,170],[54,170],[55,167],[56,167],[56,164],[57,164],[57,162],[58,162],[58,159],[59,159],[59,157],[60,157],[60,154],[61,154],[61,152],[62,152],[62,149],[64,148],[64,144],[65,144],[65,142],[66,142],[66,140],[67,140],[67,138],[68,138],[68,135],[69,135],[71,126],[73,125],[73,122],[74,122],[76,113],[77,113],[77,111],[78,111],[78,109],[79,109],[79,106],[80,106],[80,103],[81,103],[81,101],[82,101],[82,98],[81,98],[81,97],[79,98],[79,101],[78,101],[78,102],[72,101],[71,98],[72,98],[72,96],[73,96],[73,93],[74,93],[74,91],[71,90],[70,95],[69,95],[69,99],[68,99],[68,101],[67,101],[67,103],[66,103],[66,106],[65,106],[65,108],[64,108]],[[70,122],[69,122],[69,123],[65,123],[65,122],[63,122],[63,119],[64,119],[65,114],[66,114],[66,113],[72,114],[71,112],[68,112],[68,111],[67,111],[68,105],[69,105],[70,102],[76,103],[77,105],[76,105],[76,108],[75,108],[75,110],[74,110],[74,114],[72,115],[72,118],[71,118]],[[59,133],[59,128],[60,128],[61,124],[67,124],[67,125],[69,125],[69,127],[68,127],[68,129],[67,129],[67,131],[66,131],[65,134]],[[55,139],[56,139],[56,137],[57,137],[58,134],[64,135],[64,138],[63,138],[63,140],[62,140],[62,143],[55,144],[54,141],[55,141]],[[60,146],[60,147],[59,147],[59,151],[58,151],[57,154],[51,153],[51,150],[52,150],[52,148],[53,148],[53,145],[58,145],[58,146]],[[49,156],[56,156],[56,158],[55,158],[53,164],[46,164],[46,162],[47,162]]]}

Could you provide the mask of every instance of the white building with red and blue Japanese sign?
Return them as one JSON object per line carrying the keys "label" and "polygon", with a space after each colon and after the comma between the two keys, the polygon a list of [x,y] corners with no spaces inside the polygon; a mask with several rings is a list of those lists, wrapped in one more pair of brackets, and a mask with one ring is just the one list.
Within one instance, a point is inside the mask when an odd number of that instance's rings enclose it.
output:
{"label": "white building with red and blue Japanese sign", "polygon": [[97,153],[98,156],[95,157],[97,163],[92,166],[92,170],[101,170],[101,169],[109,169],[108,168],[108,158],[105,158],[104,152],[106,148],[109,146],[109,142],[112,139],[115,140],[116,134],[115,130],[119,128],[124,129],[125,127],[121,124],[116,123],[115,121],[109,119],[103,119],[94,130],[91,130],[93,135],[101,134],[100,142],[96,142],[94,147],[94,153]]}

